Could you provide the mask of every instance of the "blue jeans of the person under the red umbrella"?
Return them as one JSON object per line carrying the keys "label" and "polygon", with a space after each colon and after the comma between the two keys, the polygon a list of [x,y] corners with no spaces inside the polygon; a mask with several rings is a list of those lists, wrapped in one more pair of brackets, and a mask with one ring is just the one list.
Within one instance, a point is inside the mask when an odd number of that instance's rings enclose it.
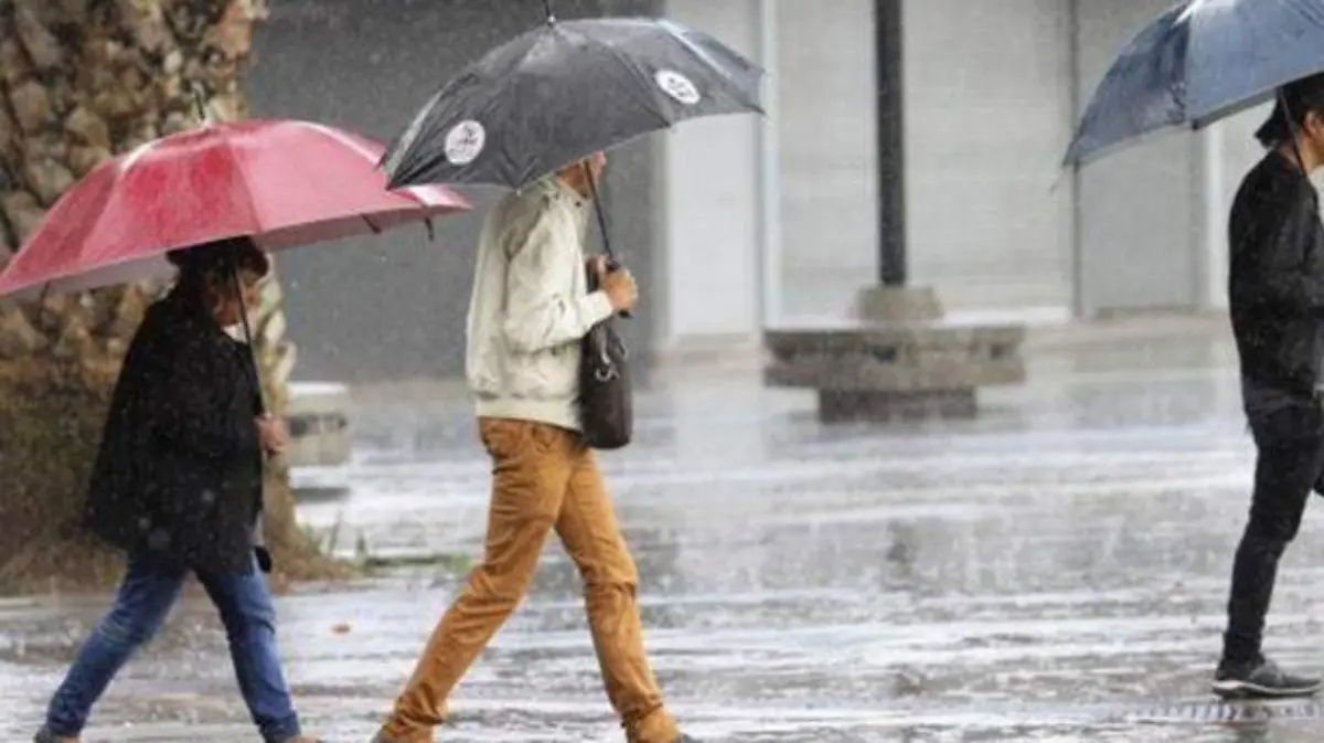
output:
{"label": "blue jeans of the person under the red umbrella", "polygon": [[[91,706],[115,673],[160,629],[187,576],[184,566],[143,556],[128,560],[114,608],[93,630],[50,701],[46,711],[50,732],[69,738],[82,732]],[[256,568],[250,573],[197,571],[197,579],[221,613],[234,675],[262,739],[283,743],[298,736],[299,718],[281,673],[275,609],[262,572]]]}

